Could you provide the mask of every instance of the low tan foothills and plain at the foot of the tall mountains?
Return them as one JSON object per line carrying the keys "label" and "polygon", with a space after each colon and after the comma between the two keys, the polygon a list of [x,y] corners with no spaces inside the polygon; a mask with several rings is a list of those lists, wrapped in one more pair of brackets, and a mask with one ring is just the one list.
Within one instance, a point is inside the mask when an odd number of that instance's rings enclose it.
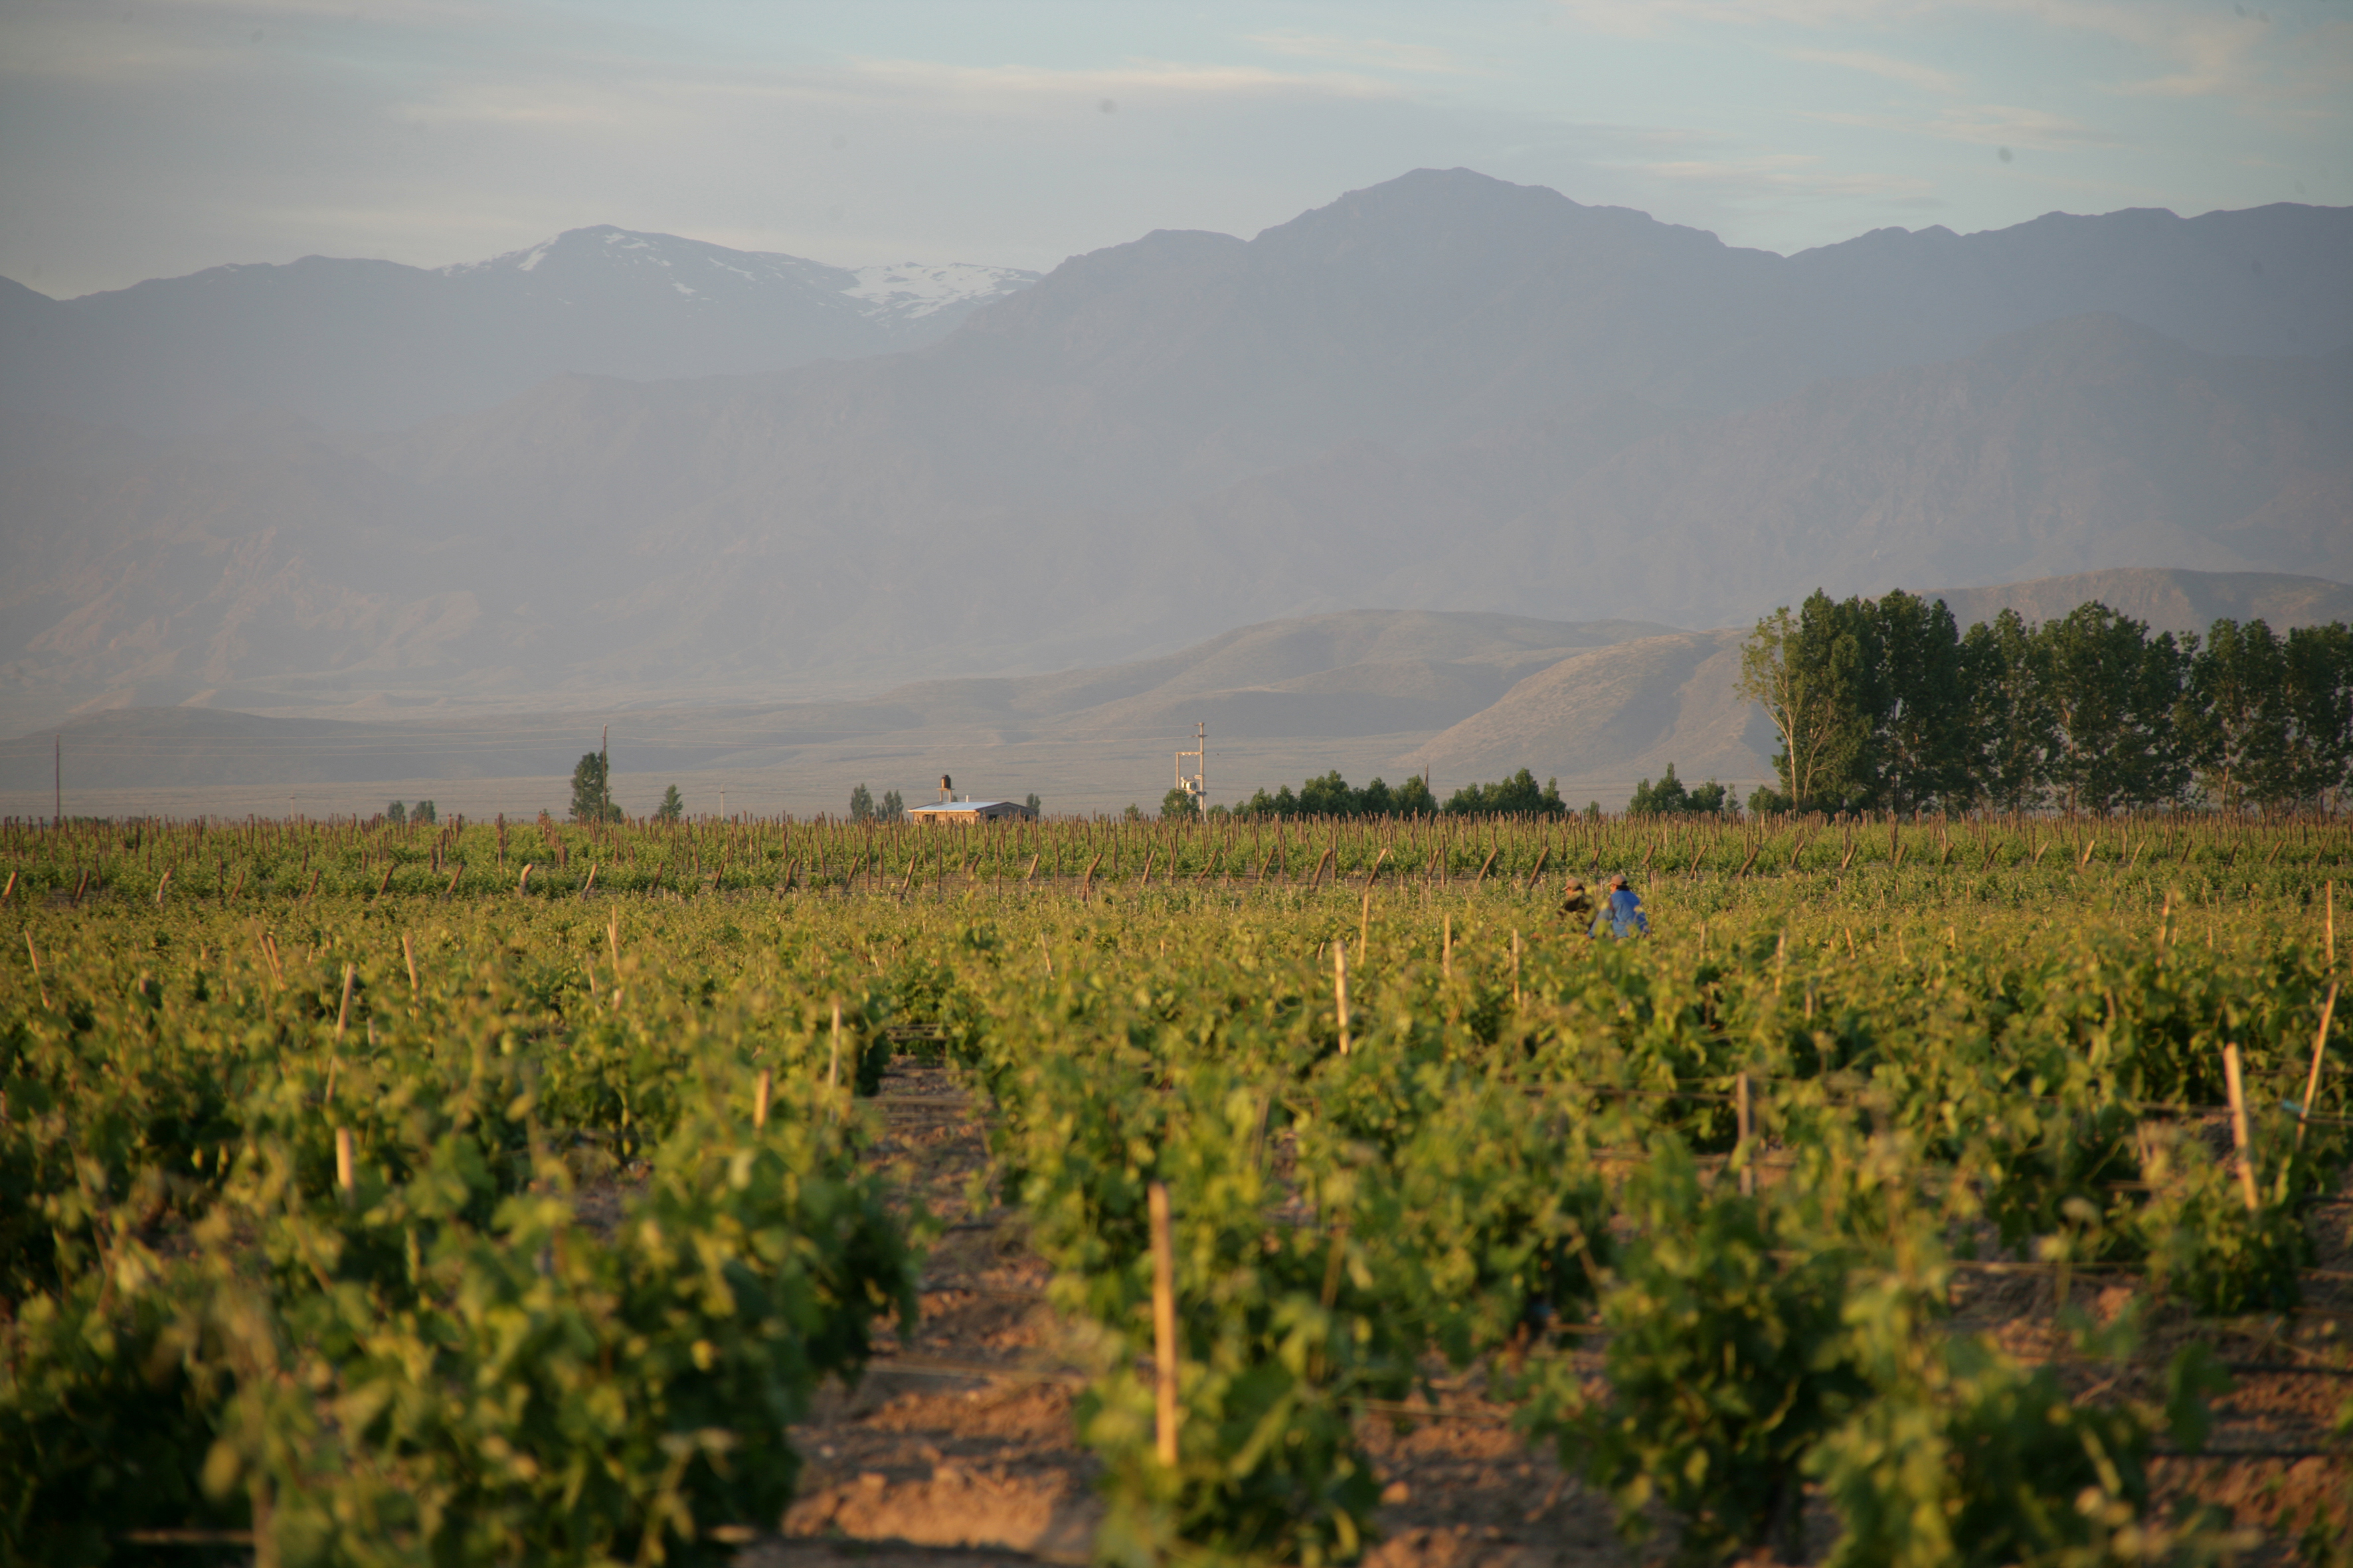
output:
{"label": "low tan foothills and plain at the foot of the tall mountains", "polygon": [[[2165,630],[2205,630],[2214,616],[2353,621],[2353,588],[2261,574],[2106,571],[1929,592],[1962,623],[2005,607],[2045,618],[2087,597]],[[680,783],[694,811],[725,799],[809,816],[838,811],[852,783],[918,799],[939,773],[984,795],[1035,790],[1054,811],[1151,806],[1193,724],[1209,731],[1212,799],[1228,804],[1327,769],[1355,783],[1426,773],[1445,795],[1527,766],[1579,802],[1621,804],[1638,778],[1673,764],[1692,783],[1713,776],[1746,792],[1772,776],[1774,736],[1732,691],[1741,637],[1358,609],[1238,628],[1160,658],[821,703],[398,722],[122,708],[0,741],[0,813],[47,813],[59,778],[68,811],[327,813],[419,795],[478,816],[562,811],[567,773],[607,719],[616,799],[631,811]]]}

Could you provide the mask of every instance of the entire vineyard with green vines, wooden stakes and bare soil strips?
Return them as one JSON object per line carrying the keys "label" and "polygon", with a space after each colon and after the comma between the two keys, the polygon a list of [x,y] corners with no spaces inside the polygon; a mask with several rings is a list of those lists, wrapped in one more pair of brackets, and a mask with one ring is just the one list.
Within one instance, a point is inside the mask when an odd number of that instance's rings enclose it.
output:
{"label": "entire vineyard with green vines, wooden stakes and bare soil strips", "polygon": [[2346,1561],[2341,818],[0,865],[0,1561]]}

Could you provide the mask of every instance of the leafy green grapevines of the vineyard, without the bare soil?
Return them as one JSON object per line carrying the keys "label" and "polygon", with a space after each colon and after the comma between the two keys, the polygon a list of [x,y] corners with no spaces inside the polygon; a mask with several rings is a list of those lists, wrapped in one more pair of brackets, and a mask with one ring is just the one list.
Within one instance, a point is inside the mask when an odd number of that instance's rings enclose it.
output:
{"label": "leafy green grapevines of the vineyard, without the bare soil", "polygon": [[[120,886],[122,858],[195,830],[115,832]],[[329,858],[273,832],[247,830],[247,863]],[[922,1218],[892,1208],[856,1100],[894,1030],[993,1107],[995,1197],[1092,1335],[1082,1434],[1127,1561],[1353,1556],[1379,1500],[1365,1422],[1438,1366],[1485,1371],[1534,1441],[1631,1521],[1666,1505],[1694,1552],[1786,1542],[1814,1483],[1842,1561],[2125,1556],[2162,1535],[2146,1465],[2195,1432],[2195,1356],[2169,1396],[2068,1406],[1951,1319],[1951,1281],[2005,1260],[2141,1281],[2177,1314],[2292,1309],[2348,1152],[2327,825],[2257,839],[2261,882],[2224,912],[2172,884],[2226,832],[2167,846],[2148,823],[2139,856],[2052,853],[2019,872],[2033,900],[1967,917],[1962,872],[1922,853],[1939,830],[1904,825],[1904,863],[1871,872],[1861,849],[1845,875],[1678,867],[1645,889],[1659,936],[1628,945],[1558,926],[1572,839],[1541,825],[1494,830],[1513,877],[1475,879],[1497,851],[1471,839],[1449,882],[1367,879],[1391,846],[1367,835],[1346,886],[1325,867],[1308,891],[1301,851],[1254,900],[1160,867],[1144,886],[1146,856],[1214,856],[1212,830],[1125,832],[1108,900],[1000,900],[976,875],[904,905],[452,900],[379,870],[226,907],[19,903],[7,1549],[96,1561],[193,1526],[254,1528],[280,1561],[607,1561],[769,1528],[784,1427],[911,1312]],[[762,844],[739,835],[694,853]],[[948,842],[988,839],[899,839]],[[2122,1347],[2085,1326],[2085,1354]]]}

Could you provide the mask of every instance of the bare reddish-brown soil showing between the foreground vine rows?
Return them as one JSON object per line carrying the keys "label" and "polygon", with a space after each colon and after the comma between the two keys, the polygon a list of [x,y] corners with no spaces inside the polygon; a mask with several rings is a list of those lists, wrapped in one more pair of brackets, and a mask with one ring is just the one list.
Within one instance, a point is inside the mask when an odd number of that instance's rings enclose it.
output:
{"label": "bare reddish-brown soil showing between the foreground vine rows", "polygon": [[[899,1058],[878,1098],[887,1140],[878,1159],[899,1168],[934,1215],[955,1218],[925,1265],[922,1324],[887,1338],[856,1389],[828,1385],[793,1429],[805,1455],[800,1495],[779,1537],[748,1547],[746,1568],[939,1568],[944,1563],[1078,1563],[1089,1559],[1101,1505],[1094,1460],[1078,1446],[1080,1375],[1064,1326],[1045,1305],[1047,1267],[1021,1241],[1019,1215],[967,1215],[967,1182],[988,1166],[984,1128],[941,1067]],[[2320,1272],[2297,1319],[2198,1324],[2198,1338],[2238,1368],[2217,1408],[2212,1448],[2278,1458],[2158,1460],[2167,1500],[2195,1493],[2233,1507],[2271,1540],[2254,1561],[2292,1561],[2285,1533],[2315,1509],[2346,1523],[2353,1490],[2341,1458],[2299,1458],[2325,1446],[2353,1380],[2353,1208],[2318,1215]],[[2075,1300],[2115,1312],[2125,1286],[2078,1276]],[[1958,1321],[1993,1328],[2005,1347],[2042,1359],[2064,1345],[2054,1284],[2045,1274],[1977,1272],[1962,1279]],[[2162,1399],[2165,1354],[2191,1333],[2160,1314],[2127,1380],[2113,1368],[2066,1368],[2071,1387],[2113,1399]],[[2266,1371],[2268,1368],[2268,1371]],[[1598,1359],[1595,1359],[1595,1373]],[[2141,1387],[2132,1387],[2139,1382]],[[1569,1479],[1555,1458],[1508,1427],[1504,1406],[1473,1387],[1440,1389],[1442,1420],[1369,1418],[1365,1448],[1386,1483],[1372,1568],[1602,1568],[1664,1563],[1673,1528],[1621,1542],[1609,1502]],[[1809,1542],[1824,1552],[1835,1519],[1817,1502]]]}

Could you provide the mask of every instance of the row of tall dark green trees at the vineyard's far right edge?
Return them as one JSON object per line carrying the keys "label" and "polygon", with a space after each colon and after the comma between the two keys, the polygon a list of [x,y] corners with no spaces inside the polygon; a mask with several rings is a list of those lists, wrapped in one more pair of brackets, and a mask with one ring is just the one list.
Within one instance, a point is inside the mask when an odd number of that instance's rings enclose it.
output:
{"label": "row of tall dark green trees at the vineyard's far right edge", "polygon": [[2353,780],[2353,630],[2151,635],[2106,604],[1962,632],[1889,592],[1758,621],[1741,696],[1781,736],[1774,811],[2311,806]]}

